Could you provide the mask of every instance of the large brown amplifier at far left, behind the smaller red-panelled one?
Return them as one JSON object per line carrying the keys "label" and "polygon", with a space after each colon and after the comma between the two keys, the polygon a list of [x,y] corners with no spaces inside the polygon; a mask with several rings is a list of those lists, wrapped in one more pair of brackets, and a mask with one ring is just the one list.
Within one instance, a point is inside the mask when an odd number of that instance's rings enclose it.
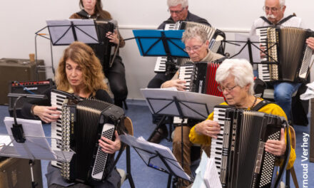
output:
{"label": "large brown amplifier at far left, behind the smaller red-panelled one", "polygon": [[[37,61],[38,66],[44,66],[44,60]],[[39,72],[38,80],[45,80],[46,73]],[[29,59],[0,59],[0,105],[8,105],[8,84],[11,81],[37,80],[36,63]]]}

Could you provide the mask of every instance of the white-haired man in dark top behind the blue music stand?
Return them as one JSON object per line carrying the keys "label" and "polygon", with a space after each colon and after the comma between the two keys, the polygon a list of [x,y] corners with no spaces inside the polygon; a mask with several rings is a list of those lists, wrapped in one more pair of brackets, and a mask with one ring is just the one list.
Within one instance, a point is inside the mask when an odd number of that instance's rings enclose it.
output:
{"label": "white-haired man in dark top behind the blue music stand", "polygon": [[[163,23],[158,26],[158,29],[165,29],[166,24],[176,23],[181,20],[194,21],[211,26],[206,19],[202,19],[188,11],[188,0],[167,0],[167,5],[170,17],[166,21],[163,21]],[[161,84],[166,82],[166,80],[171,80],[173,75],[174,73],[157,73],[153,79],[149,81],[147,88],[161,88]],[[153,123],[157,124],[160,119],[159,116],[153,115]],[[166,125],[162,125],[161,128],[158,129],[158,132],[156,132],[153,138],[149,141],[159,143],[163,138],[167,137],[167,135],[168,130]]]}

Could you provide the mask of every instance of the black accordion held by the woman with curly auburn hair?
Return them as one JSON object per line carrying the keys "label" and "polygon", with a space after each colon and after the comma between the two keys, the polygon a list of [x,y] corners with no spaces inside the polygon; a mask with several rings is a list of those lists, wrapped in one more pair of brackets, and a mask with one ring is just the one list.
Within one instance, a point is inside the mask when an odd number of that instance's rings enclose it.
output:
{"label": "black accordion held by the woman with curly auburn hair", "polygon": [[[61,169],[61,176],[72,182],[101,181],[114,167],[114,154],[98,146],[101,136],[114,140],[121,132],[123,110],[101,100],[78,100],[66,92],[51,90],[51,105],[61,110],[61,118],[51,123],[53,150],[76,152],[71,162],[51,162]],[[55,140],[55,139],[54,139]]]}

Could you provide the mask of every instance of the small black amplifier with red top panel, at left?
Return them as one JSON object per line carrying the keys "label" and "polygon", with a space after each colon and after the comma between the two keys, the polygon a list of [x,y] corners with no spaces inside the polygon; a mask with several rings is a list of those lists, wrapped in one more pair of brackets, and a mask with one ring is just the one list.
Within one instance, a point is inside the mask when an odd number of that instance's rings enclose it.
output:
{"label": "small black amplifier with red top panel, at left", "polygon": [[[12,81],[9,84],[9,93],[22,93],[22,94],[43,94],[45,90],[54,86],[54,81],[49,80],[39,80],[39,81]],[[13,108],[16,98],[9,98],[9,113],[13,117]],[[21,108],[24,102],[32,100],[31,98],[21,98],[16,103],[16,117],[23,118],[21,116]]]}

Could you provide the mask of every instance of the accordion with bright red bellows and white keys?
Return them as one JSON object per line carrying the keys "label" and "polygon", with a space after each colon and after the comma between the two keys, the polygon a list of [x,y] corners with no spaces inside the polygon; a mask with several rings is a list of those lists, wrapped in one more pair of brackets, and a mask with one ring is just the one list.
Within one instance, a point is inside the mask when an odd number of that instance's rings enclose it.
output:
{"label": "accordion with bright red bellows and white keys", "polygon": [[186,63],[179,69],[179,79],[186,80],[186,91],[223,96],[215,80],[221,59],[213,62]]}

